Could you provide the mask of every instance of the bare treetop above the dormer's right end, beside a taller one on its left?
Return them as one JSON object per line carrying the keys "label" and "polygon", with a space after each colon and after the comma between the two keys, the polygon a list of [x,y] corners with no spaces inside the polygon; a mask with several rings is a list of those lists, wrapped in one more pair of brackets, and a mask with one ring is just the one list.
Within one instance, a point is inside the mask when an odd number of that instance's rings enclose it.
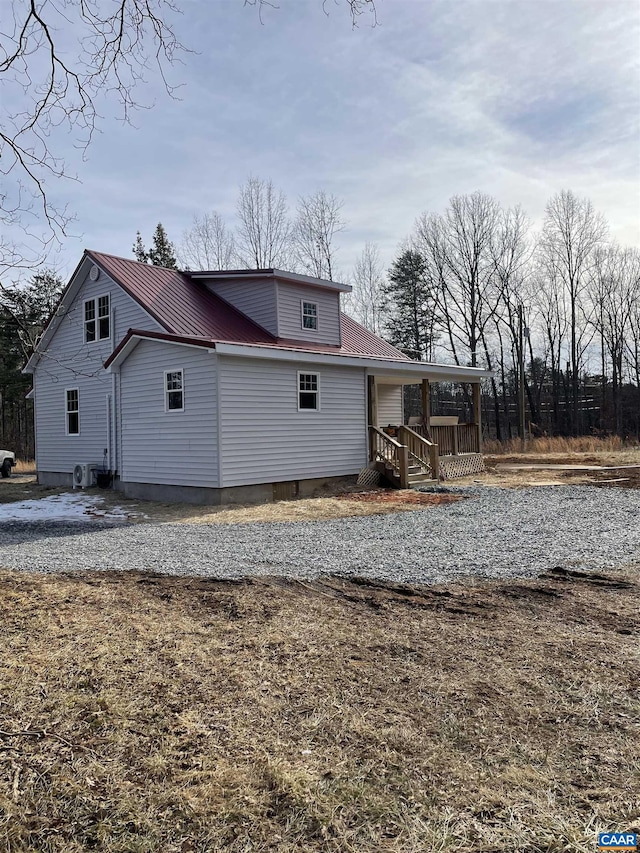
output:
{"label": "bare treetop above the dormer's right end, beside a taller one on its left", "polygon": [[341,210],[342,202],[324,190],[301,196],[293,227],[293,245],[295,258],[308,275],[333,281],[333,238],[345,226]]}

